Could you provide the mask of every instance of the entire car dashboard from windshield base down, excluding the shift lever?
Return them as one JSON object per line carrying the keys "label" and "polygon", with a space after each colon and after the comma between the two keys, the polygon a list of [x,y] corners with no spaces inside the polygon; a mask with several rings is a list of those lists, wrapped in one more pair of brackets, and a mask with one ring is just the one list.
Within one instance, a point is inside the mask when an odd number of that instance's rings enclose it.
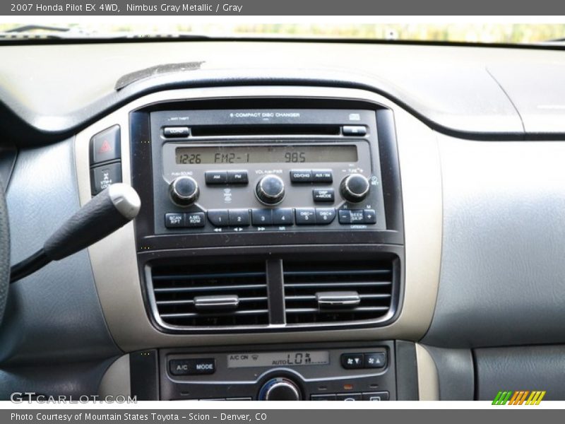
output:
{"label": "entire car dashboard from windshield base down, excluding the shift lever", "polygon": [[565,398],[560,49],[0,51],[11,263],[111,184],[141,198],[10,286],[1,398]]}

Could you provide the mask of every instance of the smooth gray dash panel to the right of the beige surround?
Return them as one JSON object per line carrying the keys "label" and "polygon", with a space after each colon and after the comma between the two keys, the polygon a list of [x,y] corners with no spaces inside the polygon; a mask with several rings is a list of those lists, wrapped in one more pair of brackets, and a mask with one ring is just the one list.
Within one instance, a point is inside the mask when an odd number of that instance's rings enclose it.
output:
{"label": "smooth gray dash panel to the right of the beige surround", "polygon": [[438,137],[443,257],[422,343],[565,343],[565,141]]}

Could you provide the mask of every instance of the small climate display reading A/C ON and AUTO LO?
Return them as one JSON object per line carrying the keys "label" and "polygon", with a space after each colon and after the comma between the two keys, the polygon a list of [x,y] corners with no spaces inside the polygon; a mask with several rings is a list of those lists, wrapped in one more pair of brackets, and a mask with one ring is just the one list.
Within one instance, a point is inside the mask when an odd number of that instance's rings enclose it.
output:
{"label": "small climate display reading A/C ON and AUTO LO", "polygon": [[328,365],[328,351],[230,353],[227,355],[228,368],[275,367],[300,365]]}

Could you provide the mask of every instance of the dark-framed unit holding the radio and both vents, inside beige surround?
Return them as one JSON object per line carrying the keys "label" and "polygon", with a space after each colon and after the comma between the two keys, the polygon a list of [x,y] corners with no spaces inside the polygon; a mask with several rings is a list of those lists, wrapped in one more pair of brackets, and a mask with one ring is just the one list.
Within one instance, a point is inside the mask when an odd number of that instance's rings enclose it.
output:
{"label": "dark-framed unit holding the radio and both vents, inside beige surround", "polygon": [[[343,100],[164,102],[133,112],[138,264],[155,325],[391,322],[403,272],[391,119]],[[260,248],[251,254],[251,245]]]}

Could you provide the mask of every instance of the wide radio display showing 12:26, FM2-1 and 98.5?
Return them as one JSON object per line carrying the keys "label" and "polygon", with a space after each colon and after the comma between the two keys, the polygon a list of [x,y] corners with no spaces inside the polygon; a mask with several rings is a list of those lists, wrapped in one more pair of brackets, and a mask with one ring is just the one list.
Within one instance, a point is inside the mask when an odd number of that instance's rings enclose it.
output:
{"label": "wide radio display showing 12:26, FM2-1 and 98.5", "polygon": [[177,147],[177,164],[357,162],[357,146]]}

